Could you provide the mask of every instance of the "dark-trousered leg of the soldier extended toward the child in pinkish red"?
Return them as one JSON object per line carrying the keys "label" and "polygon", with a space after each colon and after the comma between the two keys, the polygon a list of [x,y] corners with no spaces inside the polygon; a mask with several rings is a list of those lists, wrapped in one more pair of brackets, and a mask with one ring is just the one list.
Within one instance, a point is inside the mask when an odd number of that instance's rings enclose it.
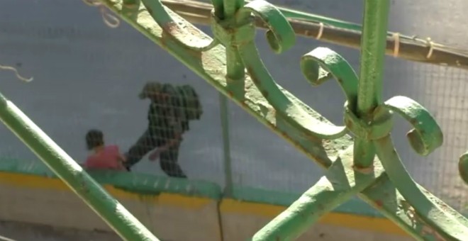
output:
{"label": "dark-trousered leg of the soldier extended toward the child in pinkish red", "polygon": [[123,165],[130,171],[130,167],[140,162],[147,152],[150,152],[156,147],[157,142],[155,138],[152,138],[150,133],[146,130],[137,142],[130,147],[128,152],[126,152],[126,162],[123,162]]}

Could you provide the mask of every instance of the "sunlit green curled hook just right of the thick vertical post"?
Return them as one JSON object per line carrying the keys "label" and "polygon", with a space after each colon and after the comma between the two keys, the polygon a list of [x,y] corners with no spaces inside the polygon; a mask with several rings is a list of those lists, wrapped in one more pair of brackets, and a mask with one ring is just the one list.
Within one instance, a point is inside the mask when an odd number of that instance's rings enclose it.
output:
{"label": "sunlit green curled hook just right of the thick vertical post", "polygon": [[419,155],[427,156],[442,145],[442,130],[429,111],[418,102],[405,96],[394,96],[378,106],[374,113],[383,109],[398,113],[413,126],[406,137]]}

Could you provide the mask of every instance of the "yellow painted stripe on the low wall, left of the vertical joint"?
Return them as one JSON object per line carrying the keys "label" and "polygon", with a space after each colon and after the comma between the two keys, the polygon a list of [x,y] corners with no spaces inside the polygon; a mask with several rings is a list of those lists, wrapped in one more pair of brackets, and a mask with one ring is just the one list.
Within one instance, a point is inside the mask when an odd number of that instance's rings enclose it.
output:
{"label": "yellow painted stripe on the low wall, left of the vertical joint", "polygon": [[[28,174],[16,174],[9,172],[0,172],[0,183],[11,186],[27,187],[33,189],[52,189],[57,191],[71,191],[69,187],[60,179],[48,178],[46,176],[35,176]],[[188,209],[200,209],[206,207],[210,198],[184,196],[181,194],[161,193],[159,195],[141,195],[133,194],[128,191],[116,189],[111,185],[103,185],[109,194],[116,198],[143,201],[145,203],[155,203],[157,205],[178,206]]]}

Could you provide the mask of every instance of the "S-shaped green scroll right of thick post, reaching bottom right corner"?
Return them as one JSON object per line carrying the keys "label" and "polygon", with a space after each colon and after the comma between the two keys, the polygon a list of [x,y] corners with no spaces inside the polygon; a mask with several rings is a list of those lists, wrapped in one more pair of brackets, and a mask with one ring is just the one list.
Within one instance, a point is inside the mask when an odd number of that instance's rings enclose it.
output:
{"label": "S-shaped green scroll right of thick post, reaching bottom right corner", "polygon": [[[430,113],[419,103],[404,96],[396,96],[377,107],[376,113],[391,111],[398,113],[413,126],[406,135],[419,155],[429,155],[440,147],[443,141],[442,130]],[[413,206],[415,215],[428,225],[438,229],[439,235],[449,240],[463,240],[468,237],[468,227],[451,215],[436,201],[431,200],[417,186],[399,155],[394,149],[390,135],[374,140],[377,156],[396,189]]]}

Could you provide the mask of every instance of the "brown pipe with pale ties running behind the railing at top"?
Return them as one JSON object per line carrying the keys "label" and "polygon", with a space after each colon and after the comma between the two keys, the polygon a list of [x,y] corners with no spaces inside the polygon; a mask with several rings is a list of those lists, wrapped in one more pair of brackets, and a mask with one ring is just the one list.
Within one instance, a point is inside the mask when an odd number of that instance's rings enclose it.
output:
{"label": "brown pipe with pale ties running behind the railing at top", "polygon": [[[213,9],[211,4],[191,0],[162,0],[162,3],[191,23],[204,25],[211,23],[210,15],[211,9]],[[279,9],[288,18],[296,35],[306,38],[317,38],[318,35],[321,35],[321,41],[355,49],[360,48],[362,26],[356,23],[291,9]],[[267,28],[266,24],[258,18],[256,24],[258,28]],[[428,58],[428,52],[431,50],[430,46],[428,46],[428,39],[423,40],[416,38],[416,36],[392,32],[388,32],[387,35],[386,55],[433,65],[444,65],[462,69],[468,68],[467,50],[433,43],[433,52],[431,57]],[[396,52],[396,46],[398,46],[398,52]],[[397,56],[396,53],[398,53]]]}

